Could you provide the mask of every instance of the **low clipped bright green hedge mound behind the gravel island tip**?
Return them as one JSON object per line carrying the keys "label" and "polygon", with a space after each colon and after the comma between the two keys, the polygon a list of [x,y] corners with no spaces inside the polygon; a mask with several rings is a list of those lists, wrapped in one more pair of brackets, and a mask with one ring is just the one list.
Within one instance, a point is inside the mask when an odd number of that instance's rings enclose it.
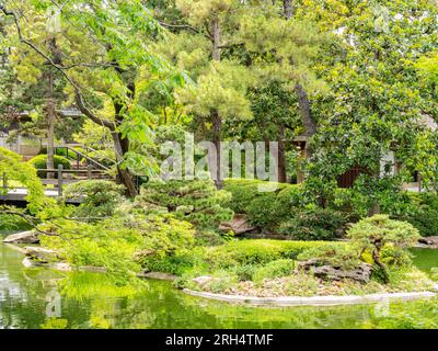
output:
{"label": "low clipped bright green hedge mound behind the gravel island tip", "polygon": [[[324,241],[287,240],[237,240],[209,248],[205,259],[214,267],[229,268],[238,264],[266,264],[279,259],[297,259],[298,254],[312,247],[326,246]],[[343,246],[345,242],[332,245]]]}

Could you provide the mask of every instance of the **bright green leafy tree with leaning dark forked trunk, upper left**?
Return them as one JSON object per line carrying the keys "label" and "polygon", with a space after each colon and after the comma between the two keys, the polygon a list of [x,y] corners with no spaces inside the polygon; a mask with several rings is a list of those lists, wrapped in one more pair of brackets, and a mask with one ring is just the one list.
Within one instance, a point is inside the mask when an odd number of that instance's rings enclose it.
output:
{"label": "bright green leafy tree with leaning dark forked trunk, upper left", "polygon": [[[50,49],[33,39],[35,35],[47,35],[45,25],[37,24],[45,21],[44,14],[54,3],[62,24],[56,34],[57,59]],[[130,152],[129,141],[148,143],[154,118],[138,101],[139,70],[148,67],[183,83],[182,76],[151,50],[151,42],[161,32],[151,13],[137,0],[74,0],[62,5],[41,0],[22,2],[19,8],[16,2],[7,1],[0,4],[0,10],[11,21],[9,44],[14,54],[32,55],[35,59],[30,66],[37,76],[39,69],[35,63],[45,61],[59,71],[81,112],[112,133],[119,179],[129,194],[135,195],[137,190],[128,165],[138,161],[139,155]],[[36,22],[26,26],[25,19],[31,14],[36,14]],[[111,112],[103,110],[108,103]]]}

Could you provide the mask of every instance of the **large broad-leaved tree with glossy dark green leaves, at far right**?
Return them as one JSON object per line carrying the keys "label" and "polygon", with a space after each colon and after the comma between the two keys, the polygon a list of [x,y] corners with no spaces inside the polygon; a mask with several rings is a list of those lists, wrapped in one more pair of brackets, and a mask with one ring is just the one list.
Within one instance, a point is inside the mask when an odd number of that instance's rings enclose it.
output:
{"label": "large broad-leaved tree with glossy dark green leaves, at far right", "polygon": [[396,203],[391,196],[402,181],[388,156],[405,163],[424,115],[436,118],[436,103],[414,63],[436,48],[437,11],[423,0],[314,0],[297,12],[318,16],[341,39],[318,65],[331,91],[314,99],[318,152],[309,166],[309,189],[324,202],[337,177],[356,168],[361,176],[355,190],[367,196],[370,213],[378,212],[379,204]]}

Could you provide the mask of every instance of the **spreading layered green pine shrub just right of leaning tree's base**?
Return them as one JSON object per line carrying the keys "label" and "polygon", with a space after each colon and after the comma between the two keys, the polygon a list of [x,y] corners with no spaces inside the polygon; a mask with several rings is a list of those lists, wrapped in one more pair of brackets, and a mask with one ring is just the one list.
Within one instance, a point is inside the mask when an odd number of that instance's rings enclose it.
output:
{"label": "spreading layered green pine shrub just right of leaning tree's base", "polygon": [[223,206],[230,194],[217,191],[211,181],[151,181],[141,188],[135,206],[146,213],[172,213],[198,228],[215,228],[232,218],[233,212]]}

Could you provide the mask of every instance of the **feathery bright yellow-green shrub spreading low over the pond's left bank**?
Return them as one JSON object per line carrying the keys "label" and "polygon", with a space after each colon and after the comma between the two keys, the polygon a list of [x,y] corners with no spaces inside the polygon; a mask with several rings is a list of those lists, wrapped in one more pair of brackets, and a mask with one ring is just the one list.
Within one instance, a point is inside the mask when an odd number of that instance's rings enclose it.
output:
{"label": "feathery bright yellow-green shrub spreading low over the pond's left bank", "polygon": [[62,219],[43,228],[58,236],[42,235],[42,245],[55,249],[69,263],[103,267],[122,275],[159,263],[165,267],[170,257],[187,257],[194,245],[192,225],[171,216],[127,215],[97,223]]}

